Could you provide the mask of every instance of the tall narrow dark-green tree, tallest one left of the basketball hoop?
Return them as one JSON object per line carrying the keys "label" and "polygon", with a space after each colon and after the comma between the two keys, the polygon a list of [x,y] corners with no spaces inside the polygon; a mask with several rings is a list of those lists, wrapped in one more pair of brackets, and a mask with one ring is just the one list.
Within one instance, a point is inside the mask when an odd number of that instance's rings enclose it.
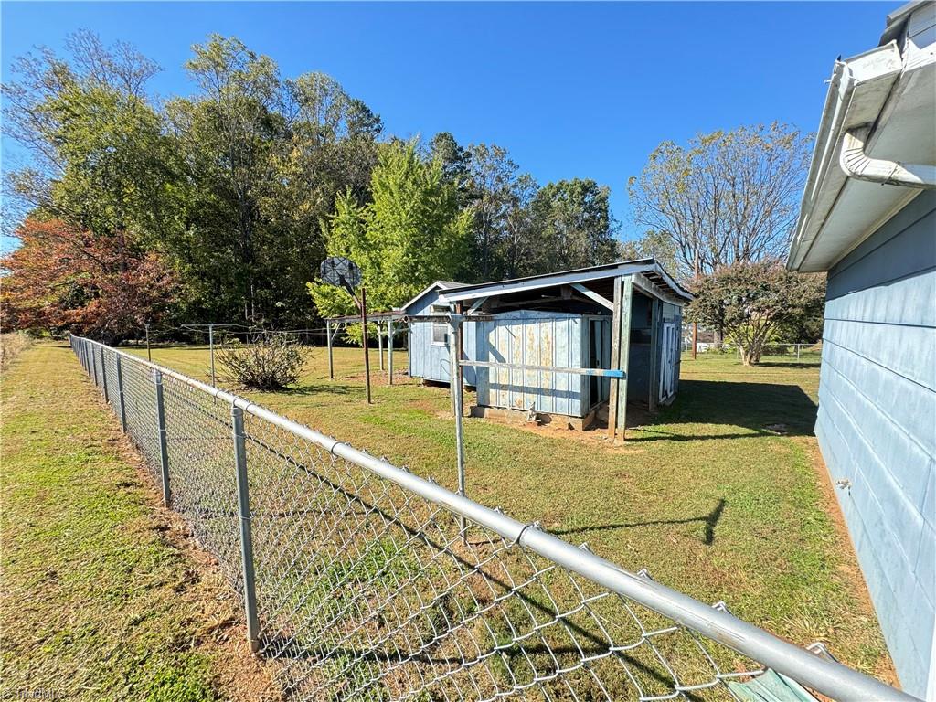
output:
{"label": "tall narrow dark-green tree, tallest one left of the basketball hoop", "polygon": [[282,85],[272,60],[238,39],[214,35],[193,51],[185,67],[197,94],[168,104],[190,193],[174,249],[195,288],[194,314],[256,319],[270,312],[258,299],[272,234],[260,203],[283,142]]}

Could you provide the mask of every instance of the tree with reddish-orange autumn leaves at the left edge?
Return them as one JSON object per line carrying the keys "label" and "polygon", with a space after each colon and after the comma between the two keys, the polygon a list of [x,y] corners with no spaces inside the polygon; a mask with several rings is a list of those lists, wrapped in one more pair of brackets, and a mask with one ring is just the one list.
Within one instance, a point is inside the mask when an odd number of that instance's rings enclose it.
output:
{"label": "tree with reddish-orange autumn leaves at the left edge", "polygon": [[33,218],[17,237],[21,246],[0,259],[5,329],[67,330],[115,344],[175,300],[173,271],[124,237]]}

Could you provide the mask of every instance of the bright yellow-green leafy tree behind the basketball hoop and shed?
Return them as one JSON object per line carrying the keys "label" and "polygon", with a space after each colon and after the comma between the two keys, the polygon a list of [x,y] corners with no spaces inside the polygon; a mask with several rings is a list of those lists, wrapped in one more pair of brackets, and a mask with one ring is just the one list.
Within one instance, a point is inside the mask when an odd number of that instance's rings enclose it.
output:
{"label": "bright yellow-green leafy tree behind the basketball hoop and shed", "polygon": [[[423,160],[413,141],[391,141],[378,149],[371,176],[372,200],[358,204],[350,192],[338,197],[328,223],[329,256],[358,263],[368,306],[388,310],[462,265],[470,212],[447,183],[442,160]],[[350,296],[321,281],[309,284],[319,314],[353,314]]]}

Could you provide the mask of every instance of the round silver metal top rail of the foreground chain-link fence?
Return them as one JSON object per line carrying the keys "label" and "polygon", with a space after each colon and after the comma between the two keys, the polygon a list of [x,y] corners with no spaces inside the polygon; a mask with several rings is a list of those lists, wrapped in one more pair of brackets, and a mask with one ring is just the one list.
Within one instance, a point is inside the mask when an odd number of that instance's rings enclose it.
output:
{"label": "round silver metal top rail of the foreground chain-link fence", "polygon": [[84,343],[107,348],[128,361],[171,376],[218,400],[240,407],[246,414],[263,419],[275,427],[321,446],[333,456],[351,461],[404,490],[409,490],[435,505],[445,507],[455,515],[490,529],[510,543],[528,548],[549,561],[607,588],[610,592],[628,597],[692,631],[748,656],[761,665],[766,665],[778,673],[797,680],[822,695],[840,701],[892,700],[899,702],[905,700],[912,702],[916,699],[912,695],[907,695],[846,665],[821,657],[751,623],[744,622],[727,611],[721,603],[716,606],[706,605],[646,575],[626,571],[615,563],[595,555],[587,548],[573,546],[548,534],[540,528],[538,522],[523,523],[512,519],[499,510],[475,503],[456,492],[446,490],[431,480],[394,466],[386,459],[372,456],[366,451],[354,448],[291,419],[281,417],[255,402],[225,390],[212,388],[182,373],[176,373],[143,358],[112,349],[105,344],[81,337],[75,338]]}

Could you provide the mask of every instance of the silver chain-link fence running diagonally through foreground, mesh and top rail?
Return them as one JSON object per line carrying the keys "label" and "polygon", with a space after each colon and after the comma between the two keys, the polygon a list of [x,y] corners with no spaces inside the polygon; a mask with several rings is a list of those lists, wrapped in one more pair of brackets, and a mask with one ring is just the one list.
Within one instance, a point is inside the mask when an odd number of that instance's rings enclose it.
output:
{"label": "silver chain-link fence running diagonally through foreground, mesh and top rail", "polygon": [[289,698],[748,700],[796,680],[913,699],[252,402],[71,346]]}

